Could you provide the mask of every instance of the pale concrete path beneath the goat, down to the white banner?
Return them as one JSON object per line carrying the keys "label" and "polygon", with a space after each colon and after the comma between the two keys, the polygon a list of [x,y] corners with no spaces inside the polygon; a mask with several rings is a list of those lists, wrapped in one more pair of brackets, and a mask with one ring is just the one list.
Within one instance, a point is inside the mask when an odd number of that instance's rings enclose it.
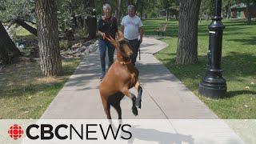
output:
{"label": "pale concrete path beneath the goat, down to the white banner", "polygon": [[[144,38],[141,46],[142,60],[137,65],[143,87],[142,109],[134,117],[130,99],[124,98],[121,103],[122,118],[218,118],[154,58],[153,54],[166,46],[165,42]],[[42,118],[106,118],[98,92],[99,72],[97,51],[83,59]],[[135,90],[132,91],[137,94]],[[118,118],[114,109],[111,114],[112,118]]]}

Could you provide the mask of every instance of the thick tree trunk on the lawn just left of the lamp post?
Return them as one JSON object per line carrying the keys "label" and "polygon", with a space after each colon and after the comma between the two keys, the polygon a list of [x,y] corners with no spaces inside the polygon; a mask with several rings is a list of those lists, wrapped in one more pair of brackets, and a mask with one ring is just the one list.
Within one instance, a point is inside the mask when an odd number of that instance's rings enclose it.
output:
{"label": "thick tree trunk on the lawn just left of the lamp post", "polygon": [[198,62],[198,14],[201,0],[181,0],[178,22],[177,64]]}

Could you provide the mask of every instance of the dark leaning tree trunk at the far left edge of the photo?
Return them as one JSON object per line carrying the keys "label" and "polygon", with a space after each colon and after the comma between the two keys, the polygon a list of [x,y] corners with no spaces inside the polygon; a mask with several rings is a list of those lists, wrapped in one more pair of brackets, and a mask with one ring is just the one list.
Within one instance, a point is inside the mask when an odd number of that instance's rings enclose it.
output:
{"label": "dark leaning tree trunk at the far left edge of the photo", "polygon": [[10,64],[13,62],[14,58],[18,58],[21,55],[21,52],[15,46],[0,21],[0,64]]}

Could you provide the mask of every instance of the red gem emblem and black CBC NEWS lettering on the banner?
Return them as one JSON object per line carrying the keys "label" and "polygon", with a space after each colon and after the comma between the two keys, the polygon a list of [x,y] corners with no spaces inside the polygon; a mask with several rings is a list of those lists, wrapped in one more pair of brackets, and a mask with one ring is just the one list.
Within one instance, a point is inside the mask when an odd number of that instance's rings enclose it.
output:
{"label": "red gem emblem and black CBC NEWS lettering on the banner", "polygon": [[[85,126],[84,126],[85,125]],[[126,127],[126,128],[125,128]],[[25,129],[27,138],[31,140],[41,139],[41,140],[51,140],[54,137],[65,140],[74,138],[74,135],[78,136],[81,140],[98,140],[98,138],[104,138],[107,140],[110,138],[114,138],[117,140],[118,135],[120,134],[120,138],[124,140],[128,140],[132,138],[132,133],[129,128],[131,126],[129,124],[119,124],[118,127],[112,126],[109,124],[108,126],[104,126],[102,124],[81,124],[80,126],[74,126],[72,124],[59,124],[58,126],[52,126],[50,124],[30,124]],[[100,129],[97,129],[100,128]],[[128,128],[128,129],[127,129]],[[30,130],[38,130],[38,134],[30,134]],[[66,131],[66,135],[61,135],[60,131]],[[17,140],[22,138],[24,130],[22,130],[22,126],[18,124],[11,125],[8,134],[10,138]],[[94,137],[91,134],[99,134]],[[122,135],[125,134],[125,135]],[[89,136],[90,135],[90,136]]]}

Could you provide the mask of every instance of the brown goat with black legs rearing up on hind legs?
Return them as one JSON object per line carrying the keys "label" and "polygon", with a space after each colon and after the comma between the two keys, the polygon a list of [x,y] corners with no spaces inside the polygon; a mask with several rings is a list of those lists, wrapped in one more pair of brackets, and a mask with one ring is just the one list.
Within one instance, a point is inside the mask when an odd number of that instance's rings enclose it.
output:
{"label": "brown goat with black legs rearing up on hind legs", "polygon": [[[115,47],[117,59],[110,66],[106,76],[102,79],[99,85],[99,92],[102,98],[102,105],[106,113],[106,117],[111,119],[110,106],[113,106],[118,112],[118,119],[122,119],[122,110],[120,101],[126,95],[131,98],[133,102],[132,112],[138,115],[138,108],[141,108],[142,102],[142,87],[138,82],[138,70],[131,63],[130,45],[126,39],[123,38],[122,32],[118,32],[118,41],[113,38],[108,39]],[[130,93],[130,88],[135,87],[138,90],[138,97]]]}

